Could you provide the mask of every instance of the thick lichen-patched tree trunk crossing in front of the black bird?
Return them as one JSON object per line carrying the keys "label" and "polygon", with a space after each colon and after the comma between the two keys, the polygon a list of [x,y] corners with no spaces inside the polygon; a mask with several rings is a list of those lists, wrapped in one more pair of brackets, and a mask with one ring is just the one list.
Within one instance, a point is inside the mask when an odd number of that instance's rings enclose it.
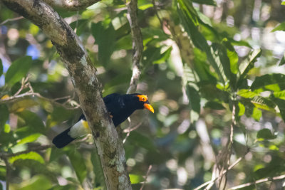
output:
{"label": "thick lichen-patched tree trunk crossing in front of the black bird", "polygon": [[93,132],[107,189],[131,189],[123,143],[118,139],[101,95],[96,69],[70,26],[41,0],[1,0],[51,38],[71,75],[81,108]]}

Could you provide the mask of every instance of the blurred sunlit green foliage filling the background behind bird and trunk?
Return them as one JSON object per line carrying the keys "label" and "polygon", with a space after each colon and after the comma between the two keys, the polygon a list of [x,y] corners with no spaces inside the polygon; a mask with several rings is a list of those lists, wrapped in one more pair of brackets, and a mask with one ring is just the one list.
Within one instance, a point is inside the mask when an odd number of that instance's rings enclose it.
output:
{"label": "blurred sunlit green foliage filling the background behind bird and trunk", "polygon": [[[195,189],[239,157],[227,189],[285,173],[284,4],[138,1],[145,46],[138,92],[155,114],[137,111],[120,126],[133,189],[143,181],[143,189]],[[81,114],[56,48],[33,23],[0,8],[0,189],[6,174],[11,189],[103,189],[90,135],[63,149],[50,145]],[[133,51],[124,1],[57,11],[85,44],[103,96],[125,93]]]}

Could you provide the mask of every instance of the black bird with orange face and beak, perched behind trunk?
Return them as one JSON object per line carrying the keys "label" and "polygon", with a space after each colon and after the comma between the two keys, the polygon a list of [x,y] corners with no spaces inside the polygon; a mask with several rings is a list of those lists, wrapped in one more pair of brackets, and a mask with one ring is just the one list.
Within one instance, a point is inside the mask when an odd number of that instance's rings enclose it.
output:
{"label": "black bird with orange face and beak, perched behind trunk", "polygon": [[[127,120],[135,110],[147,109],[150,110],[150,112],[154,112],[152,105],[150,105],[150,102],[147,100],[147,95],[139,93],[126,95],[113,93],[103,97],[103,100],[115,127]],[[57,148],[63,148],[77,137],[88,133],[90,133],[88,122],[85,115],[82,114],[75,125],[53,138],[53,144],[55,144]]]}

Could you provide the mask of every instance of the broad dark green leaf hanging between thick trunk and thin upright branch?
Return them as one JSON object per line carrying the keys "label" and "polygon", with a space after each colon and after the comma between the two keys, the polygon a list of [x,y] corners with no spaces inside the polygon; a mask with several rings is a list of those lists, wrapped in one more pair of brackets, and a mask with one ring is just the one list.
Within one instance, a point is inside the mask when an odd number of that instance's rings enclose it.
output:
{"label": "broad dark green leaf hanging between thick trunk and thin upright branch", "polygon": [[108,28],[102,22],[91,24],[92,35],[95,43],[98,44],[98,60],[102,65],[109,63],[110,57],[115,48],[115,30],[110,24]]}

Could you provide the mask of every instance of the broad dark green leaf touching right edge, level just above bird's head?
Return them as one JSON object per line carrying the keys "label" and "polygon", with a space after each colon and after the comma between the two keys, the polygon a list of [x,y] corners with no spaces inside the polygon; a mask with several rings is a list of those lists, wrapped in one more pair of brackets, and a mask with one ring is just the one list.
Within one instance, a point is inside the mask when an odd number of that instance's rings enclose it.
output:
{"label": "broad dark green leaf touching right edge, level just above bird's head", "polygon": [[265,88],[267,90],[271,90],[272,85],[277,85],[279,89],[284,90],[285,89],[285,75],[283,74],[262,75],[260,77],[255,78],[250,88],[252,90],[256,90],[259,88]]}

